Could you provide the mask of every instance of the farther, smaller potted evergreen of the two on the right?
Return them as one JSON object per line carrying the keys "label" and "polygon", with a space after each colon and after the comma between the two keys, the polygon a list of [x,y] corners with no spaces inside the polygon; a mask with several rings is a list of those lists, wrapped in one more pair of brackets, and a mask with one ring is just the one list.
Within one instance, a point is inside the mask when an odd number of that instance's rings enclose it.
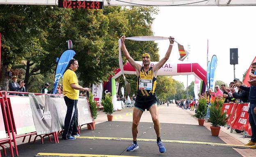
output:
{"label": "farther, smaller potted evergreen of the two on the right", "polygon": [[206,108],[207,100],[205,97],[200,97],[198,102],[199,102],[199,104],[197,107],[197,112],[196,112],[196,114],[193,115],[193,117],[197,117],[198,124],[200,126],[203,126],[203,123],[204,123],[204,120],[206,117],[206,113],[207,113],[207,108]]}

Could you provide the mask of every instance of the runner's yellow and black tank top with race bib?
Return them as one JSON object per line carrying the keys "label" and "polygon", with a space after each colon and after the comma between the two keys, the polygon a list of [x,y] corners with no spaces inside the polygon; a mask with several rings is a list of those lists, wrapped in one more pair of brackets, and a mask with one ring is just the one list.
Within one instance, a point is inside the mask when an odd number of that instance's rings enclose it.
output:
{"label": "runner's yellow and black tank top with race bib", "polygon": [[152,66],[148,71],[144,71],[144,67],[139,71],[137,79],[137,96],[155,95],[156,78],[153,74]]}

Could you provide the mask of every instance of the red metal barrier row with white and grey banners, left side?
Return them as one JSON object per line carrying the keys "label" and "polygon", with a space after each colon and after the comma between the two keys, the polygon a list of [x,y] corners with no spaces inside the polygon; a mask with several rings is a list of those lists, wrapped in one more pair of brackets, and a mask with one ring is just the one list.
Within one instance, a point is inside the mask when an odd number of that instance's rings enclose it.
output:
{"label": "red metal barrier row with white and grey banners, left side", "polygon": [[[7,95],[7,93],[22,93],[29,96]],[[3,144],[9,144],[11,157],[18,156],[16,139],[35,135],[43,138],[53,137],[55,143],[59,143],[57,135],[64,128],[64,119],[66,115],[66,104],[63,95],[24,93],[0,91],[0,104],[2,115],[0,115],[0,146],[3,148],[3,154],[6,156],[6,150]],[[78,128],[90,124],[92,126],[91,111],[88,100],[85,97],[79,97],[78,100]],[[94,128],[92,128],[94,129]],[[0,154],[1,157],[1,154]]]}

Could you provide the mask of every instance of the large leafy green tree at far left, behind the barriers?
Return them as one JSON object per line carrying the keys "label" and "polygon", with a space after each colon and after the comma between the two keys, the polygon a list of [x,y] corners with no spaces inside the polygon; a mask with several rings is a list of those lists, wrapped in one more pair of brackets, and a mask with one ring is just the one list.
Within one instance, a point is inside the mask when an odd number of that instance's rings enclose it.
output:
{"label": "large leafy green tree at far left, behind the barriers", "polygon": [[[46,64],[37,65],[44,60],[47,62],[45,49],[48,44],[48,36],[53,35],[49,30],[62,30],[61,22],[64,22],[70,11],[52,6],[27,6],[27,5],[1,5],[0,6],[0,32],[2,33],[2,90],[7,90],[8,76],[5,75],[14,65],[14,68],[25,69],[25,83],[29,87],[30,76],[39,75]],[[57,28],[56,28],[57,27]],[[56,38],[55,38],[56,39]],[[52,55],[48,55],[52,56]],[[26,60],[27,62],[21,62]],[[33,66],[33,67],[32,67]],[[32,68],[31,68],[32,67]]]}

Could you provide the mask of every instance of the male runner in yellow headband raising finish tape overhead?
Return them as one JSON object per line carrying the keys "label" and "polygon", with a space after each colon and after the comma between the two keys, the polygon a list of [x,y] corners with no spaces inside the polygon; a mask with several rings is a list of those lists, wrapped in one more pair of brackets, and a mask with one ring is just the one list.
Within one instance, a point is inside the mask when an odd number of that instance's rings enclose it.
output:
{"label": "male runner in yellow headband raising finish tape overhead", "polygon": [[151,57],[149,53],[142,54],[142,62],[143,66],[136,63],[133,58],[128,53],[126,46],[124,44],[125,36],[121,37],[121,44],[123,54],[125,55],[128,62],[135,68],[138,79],[137,79],[137,96],[135,100],[135,108],[133,108],[133,143],[127,148],[127,151],[133,151],[138,149],[139,146],[137,144],[137,133],[138,133],[138,124],[139,120],[142,116],[142,113],[147,109],[150,112],[154,129],[157,137],[157,144],[159,147],[160,153],[165,153],[165,147],[163,146],[160,139],[160,122],[158,120],[158,106],[157,106],[157,98],[155,96],[155,87],[156,87],[156,77],[158,70],[165,64],[165,62],[169,59],[171,54],[171,49],[174,43],[174,38],[170,37],[170,45],[165,54],[165,57],[160,60],[157,64],[150,66]]}

